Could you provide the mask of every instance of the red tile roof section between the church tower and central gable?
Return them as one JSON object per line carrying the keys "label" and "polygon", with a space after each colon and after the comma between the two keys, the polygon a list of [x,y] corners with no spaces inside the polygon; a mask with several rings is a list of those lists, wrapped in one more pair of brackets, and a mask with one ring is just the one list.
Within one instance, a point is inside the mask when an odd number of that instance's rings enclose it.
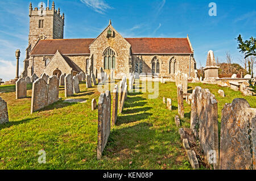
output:
{"label": "red tile roof section between the church tower and central gable", "polygon": [[61,54],[90,54],[89,45],[94,39],[54,39],[40,40],[30,54],[49,55],[57,50]]}

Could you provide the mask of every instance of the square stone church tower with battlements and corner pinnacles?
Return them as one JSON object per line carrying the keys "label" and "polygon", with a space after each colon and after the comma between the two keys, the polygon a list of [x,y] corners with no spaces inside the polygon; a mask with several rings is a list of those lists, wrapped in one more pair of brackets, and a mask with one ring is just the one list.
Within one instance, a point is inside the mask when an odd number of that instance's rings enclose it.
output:
{"label": "square stone church tower with battlements and corner pinnacles", "polygon": [[[60,9],[55,9],[55,3],[52,2],[52,8],[40,7],[32,8],[29,6],[30,32],[28,35],[28,52],[41,39],[63,39],[64,34],[64,13],[60,15]],[[30,49],[30,50],[29,50]]]}

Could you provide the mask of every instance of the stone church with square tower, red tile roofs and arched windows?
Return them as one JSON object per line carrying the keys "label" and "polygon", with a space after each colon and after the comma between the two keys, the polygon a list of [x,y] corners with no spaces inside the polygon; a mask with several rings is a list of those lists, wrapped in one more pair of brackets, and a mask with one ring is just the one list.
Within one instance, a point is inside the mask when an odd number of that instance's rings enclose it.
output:
{"label": "stone church with square tower, red tile roofs and arched windows", "polygon": [[[99,74],[114,72],[122,78],[131,72],[154,74],[175,79],[175,73],[195,77],[196,61],[189,37],[125,38],[115,30],[111,20],[104,31],[92,39],[63,39],[64,14],[60,9],[43,5],[29,6],[30,32],[22,77],[77,74],[80,71]],[[98,76],[100,77],[100,76]]]}

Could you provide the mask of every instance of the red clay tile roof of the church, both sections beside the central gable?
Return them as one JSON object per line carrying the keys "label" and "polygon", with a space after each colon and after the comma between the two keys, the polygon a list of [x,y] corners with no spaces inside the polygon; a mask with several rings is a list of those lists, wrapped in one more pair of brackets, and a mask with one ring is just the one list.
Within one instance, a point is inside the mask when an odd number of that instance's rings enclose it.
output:
{"label": "red clay tile roof of the church, both sections beside the central gable", "polygon": [[[89,45],[94,39],[40,40],[31,55],[90,54]],[[134,54],[193,53],[187,38],[126,38]]]}

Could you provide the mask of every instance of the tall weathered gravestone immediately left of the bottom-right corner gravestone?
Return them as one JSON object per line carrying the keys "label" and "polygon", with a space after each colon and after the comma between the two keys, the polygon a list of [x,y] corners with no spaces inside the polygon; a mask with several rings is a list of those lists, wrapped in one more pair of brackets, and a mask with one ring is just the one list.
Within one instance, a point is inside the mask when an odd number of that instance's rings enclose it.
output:
{"label": "tall weathered gravestone immediately left of the bottom-right corner gravestone", "polygon": [[218,107],[208,89],[196,87],[191,101],[191,129],[200,141],[209,165],[218,169]]}

